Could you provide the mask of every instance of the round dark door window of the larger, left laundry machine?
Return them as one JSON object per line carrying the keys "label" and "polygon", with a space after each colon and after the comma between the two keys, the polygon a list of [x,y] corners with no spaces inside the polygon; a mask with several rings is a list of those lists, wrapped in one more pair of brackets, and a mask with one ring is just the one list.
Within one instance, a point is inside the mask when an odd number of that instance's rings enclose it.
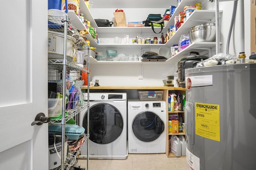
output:
{"label": "round dark door window of the larger, left laundry machine", "polygon": [[[97,144],[108,144],[121,135],[124,122],[120,111],[108,103],[99,103],[90,107],[90,140]],[[87,133],[87,111],[83,119]]]}

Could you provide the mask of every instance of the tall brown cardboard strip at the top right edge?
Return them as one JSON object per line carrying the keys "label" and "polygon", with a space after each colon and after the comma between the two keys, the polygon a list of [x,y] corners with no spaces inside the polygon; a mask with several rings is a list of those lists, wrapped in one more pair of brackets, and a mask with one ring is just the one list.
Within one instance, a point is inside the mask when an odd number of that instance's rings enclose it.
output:
{"label": "tall brown cardboard strip at the top right edge", "polygon": [[256,53],[256,1],[251,0],[251,55]]}

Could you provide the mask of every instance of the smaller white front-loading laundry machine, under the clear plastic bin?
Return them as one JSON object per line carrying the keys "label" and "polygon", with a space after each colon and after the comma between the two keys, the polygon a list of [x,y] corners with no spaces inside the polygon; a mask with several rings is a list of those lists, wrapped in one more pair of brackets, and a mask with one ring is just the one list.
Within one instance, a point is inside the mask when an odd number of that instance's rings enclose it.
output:
{"label": "smaller white front-loading laundry machine, under the clear plastic bin", "polygon": [[165,152],[165,101],[128,100],[128,153]]}

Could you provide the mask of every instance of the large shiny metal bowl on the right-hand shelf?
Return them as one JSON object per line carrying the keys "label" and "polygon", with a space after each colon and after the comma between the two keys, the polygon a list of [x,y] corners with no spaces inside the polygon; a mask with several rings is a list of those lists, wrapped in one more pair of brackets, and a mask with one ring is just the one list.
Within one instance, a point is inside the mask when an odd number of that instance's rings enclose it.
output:
{"label": "large shiny metal bowl on the right-hand shelf", "polygon": [[216,36],[216,27],[214,23],[200,24],[190,28],[190,42],[213,42]]}

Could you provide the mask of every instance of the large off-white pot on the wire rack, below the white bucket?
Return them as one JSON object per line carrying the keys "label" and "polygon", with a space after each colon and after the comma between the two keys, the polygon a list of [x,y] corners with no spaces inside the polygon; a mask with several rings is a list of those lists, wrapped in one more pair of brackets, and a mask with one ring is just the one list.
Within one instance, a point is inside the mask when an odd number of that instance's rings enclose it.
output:
{"label": "large off-white pot on the wire rack, below the white bucket", "polygon": [[[67,61],[73,62],[76,54],[74,47],[75,38],[67,36]],[[48,31],[48,59],[63,59],[64,34],[60,32]]]}

